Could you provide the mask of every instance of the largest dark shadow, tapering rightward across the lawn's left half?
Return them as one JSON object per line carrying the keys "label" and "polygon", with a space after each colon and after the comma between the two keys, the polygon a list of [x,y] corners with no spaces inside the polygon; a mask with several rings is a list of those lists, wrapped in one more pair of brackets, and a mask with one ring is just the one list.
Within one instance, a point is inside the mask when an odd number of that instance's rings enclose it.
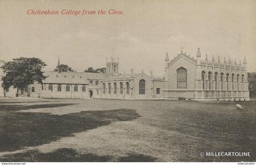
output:
{"label": "largest dark shadow, tapering rightward across the lawn's left half", "polygon": [[74,104],[0,105],[0,152],[39,146],[64,136],[73,136],[76,132],[140,117],[135,110],[129,109],[81,111],[63,115],[17,111],[68,105]]}

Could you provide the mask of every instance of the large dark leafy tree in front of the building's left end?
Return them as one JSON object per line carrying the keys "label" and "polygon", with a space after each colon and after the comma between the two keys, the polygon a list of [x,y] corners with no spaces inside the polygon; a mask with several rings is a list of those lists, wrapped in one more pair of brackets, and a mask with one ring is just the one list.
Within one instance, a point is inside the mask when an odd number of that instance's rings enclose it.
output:
{"label": "large dark leafy tree in front of the building's left end", "polygon": [[4,76],[2,76],[2,87],[18,88],[23,94],[23,89],[27,88],[28,85],[38,82],[41,85],[46,76],[43,75],[41,71],[46,64],[39,58],[14,58],[13,61],[9,61],[1,66],[4,71]]}

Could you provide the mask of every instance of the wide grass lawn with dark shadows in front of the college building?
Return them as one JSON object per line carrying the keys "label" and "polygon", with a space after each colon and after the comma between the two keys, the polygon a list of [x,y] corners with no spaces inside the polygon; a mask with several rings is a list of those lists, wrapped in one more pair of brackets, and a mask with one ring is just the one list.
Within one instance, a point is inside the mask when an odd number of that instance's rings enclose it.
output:
{"label": "wide grass lawn with dark shadows in front of the college building", "polygon": [[0,99],[0,161],[256,161],[256,101],[235,104]]}

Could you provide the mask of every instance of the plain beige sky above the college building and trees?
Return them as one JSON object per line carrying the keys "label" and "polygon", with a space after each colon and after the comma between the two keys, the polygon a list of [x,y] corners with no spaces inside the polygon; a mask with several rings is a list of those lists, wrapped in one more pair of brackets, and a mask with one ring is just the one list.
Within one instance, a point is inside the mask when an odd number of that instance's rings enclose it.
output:
{"label": "plain beige sky above the college building and trees", "polygon": [[[27,15],[27,10],[123,10],[124,15]],[[256,1],[3,1],[0,59],[38,57],[52,70],[60,62],[77,71],[105,67],[163,75],[165,54],[226,56],[256,71]]]}

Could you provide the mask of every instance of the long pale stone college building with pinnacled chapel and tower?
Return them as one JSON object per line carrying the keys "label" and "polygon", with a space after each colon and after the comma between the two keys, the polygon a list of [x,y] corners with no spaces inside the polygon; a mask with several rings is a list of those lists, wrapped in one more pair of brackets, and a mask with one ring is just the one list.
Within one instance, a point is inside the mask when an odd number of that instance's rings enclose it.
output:
{"label": "long pale stone college building with pinnacled chapel and tower", "polygon": [[[43,85],[34,83],[24,91],[26,96],[41,98],[249,100],[246,64],[245,57],[243,65],[230,58],[209,60],[205,55],[202,59],[198,48],[196,58],[181,51],[169,60],[166,54],[165,74],[155,77],[152,71],[146,75],[133,69],[121,74],[119,59],[111,58],[104,73],[44,71]],[[17,89],[0,88],[0,97],[16,96]]]}

